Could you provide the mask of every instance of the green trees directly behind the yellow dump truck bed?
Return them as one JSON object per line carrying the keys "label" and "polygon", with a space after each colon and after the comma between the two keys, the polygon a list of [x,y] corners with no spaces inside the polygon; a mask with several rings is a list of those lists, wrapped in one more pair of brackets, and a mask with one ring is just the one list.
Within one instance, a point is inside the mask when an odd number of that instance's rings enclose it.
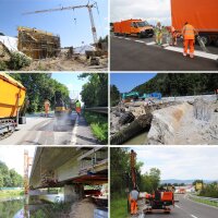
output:
{"label": "green trees directly behind the yellow dump truck bed", "polygon": [[53,107],[57,90],[61,92],[63,100],[69,104],[68,87],[51,78],[51,73],[11,73],[10,76],[20,81],[26,88],[26,97],[29,100],[27,112],[43,111],[45,99],[48,99]]}

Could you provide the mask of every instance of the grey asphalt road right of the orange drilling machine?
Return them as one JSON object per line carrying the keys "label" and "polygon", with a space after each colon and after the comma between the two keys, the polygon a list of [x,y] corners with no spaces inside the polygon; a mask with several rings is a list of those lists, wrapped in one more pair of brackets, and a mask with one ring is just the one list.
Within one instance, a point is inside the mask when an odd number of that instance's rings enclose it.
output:
{"label": "grey asphalt road right of the orange drilling machine", "polygon": [[[164,214],[160,210],[147,214],[144,218],[217,218],[218,208],[192,202],[186,197],[186,195],[177,195],[177,199],[179,199],[179,202],[175,203],[174,208],[171,208],[170,214]],[[134,216],[132,216],[132,218]]]}

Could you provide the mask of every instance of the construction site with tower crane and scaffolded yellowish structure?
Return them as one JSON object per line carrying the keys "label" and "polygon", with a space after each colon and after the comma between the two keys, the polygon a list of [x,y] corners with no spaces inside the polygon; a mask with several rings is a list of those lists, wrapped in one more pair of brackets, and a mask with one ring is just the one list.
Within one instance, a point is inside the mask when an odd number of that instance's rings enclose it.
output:
{"label": "construction site with tower crane and scaffolded yellowish structure", "polygon": [[[93,41],[80,46],[63,44],[60,33],[50,33],[48,29],[34,27],[37,23],[38,13],[44,15],[50,12],[87,10],[90,27],[85,34],[93,35]],[[26,8],[27,11],[27,8]],[[94,14],[98,12],[97,2],[61,8],[51,8],[40,11],[22,12],[22,16],[36,19],[33,26],[19,26],[15,37],[0,33],[0,70],[22,71],[106,71],[108,69],[108,39],[107,36],[98,36]],[[99,13],[99,12],[98,12]],[[58,16],[57,16],[58,19]],[[76,21],[76,19],[74,19]],[[69,26],[69,37],[70,34]],[[84,39],[84,33],[81,40]],[[70,40],[72,41],[72,40]]]}

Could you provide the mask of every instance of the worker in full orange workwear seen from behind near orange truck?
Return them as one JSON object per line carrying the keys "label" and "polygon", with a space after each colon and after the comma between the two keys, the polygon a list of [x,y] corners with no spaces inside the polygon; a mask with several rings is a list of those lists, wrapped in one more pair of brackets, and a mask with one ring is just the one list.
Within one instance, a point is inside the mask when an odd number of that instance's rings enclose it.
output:
{"label": "worker in full orange workwear seen from behind near orange truck", "polygon": [[184,57],[187,56],[187,49],[190,47],[190,58],[194,58],[194,43],[195,43],[195,35],[197,35],[196,29],[186,22],[182,28],[182,35],[183,35],[183,46],[184,46],[183,56]]}

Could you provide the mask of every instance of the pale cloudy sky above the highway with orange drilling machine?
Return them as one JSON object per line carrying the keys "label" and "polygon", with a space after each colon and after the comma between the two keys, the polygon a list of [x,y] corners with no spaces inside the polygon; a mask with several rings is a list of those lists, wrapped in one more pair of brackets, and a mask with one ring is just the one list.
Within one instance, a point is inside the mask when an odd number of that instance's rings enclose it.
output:
{"label": "pale cloudy sky above the highway with orange drilling machine", "polygon": [[137,159],[144,162],[143,173],[150,168],[161,171],[166,179],[218,180],[218,147],[165,146],[131,147]]}

